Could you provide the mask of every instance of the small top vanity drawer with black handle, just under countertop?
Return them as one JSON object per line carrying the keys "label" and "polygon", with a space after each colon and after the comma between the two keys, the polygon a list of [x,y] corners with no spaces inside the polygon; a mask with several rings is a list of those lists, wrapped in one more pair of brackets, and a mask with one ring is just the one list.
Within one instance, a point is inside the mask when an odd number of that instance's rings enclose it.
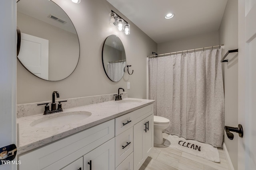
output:
{"label": "small top vanity drawer with black handle, just under countertop", "polygon": [[134,125],[133,112],[115,118],[115,136]]}

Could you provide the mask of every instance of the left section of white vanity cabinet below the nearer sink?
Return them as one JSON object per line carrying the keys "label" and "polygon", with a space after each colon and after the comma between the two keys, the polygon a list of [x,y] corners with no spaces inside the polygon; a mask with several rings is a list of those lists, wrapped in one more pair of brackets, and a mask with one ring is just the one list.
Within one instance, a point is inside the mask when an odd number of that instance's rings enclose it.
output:
{"label": "left section of white vanity cabinet below the nearer sink", "polygon": [[[96,152],[99,153],[108,153],[108,164],[111,166],[109,170],[113,170],[113,137],[114,119],[50,143],[39,149],[18,155],[18,160],[21,161],[21,164],[18,165],[18,170],[60,170],[62,168],[66,170],[69,167],[74,167],[73,165],[77,163],[76,160],[80,160],[80,158],[96,160],[97,155],[93,155],[94,150],[97,150]],[[103,149],[105,147],[106,149]],[[89,157],[85,155],[86,153],[88,153]],[[101,160],[99,161],[100,163],[102,163]],[[83,170],[87,167],[79,168]],[[73,169],[70,168],[69,170]],[[78,170],[76,166],[74,170]]]}

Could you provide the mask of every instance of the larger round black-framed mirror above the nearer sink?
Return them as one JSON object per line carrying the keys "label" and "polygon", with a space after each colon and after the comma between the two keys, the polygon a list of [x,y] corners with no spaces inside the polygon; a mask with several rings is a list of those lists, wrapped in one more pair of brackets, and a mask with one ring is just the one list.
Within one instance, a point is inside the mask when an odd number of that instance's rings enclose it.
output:
{"label": "larger round black-framed mirror above the nearer sink", "polygon": [[59,81],[74,72],[80,56],[76,29],[68,15],[50,0],[18,0],[21,31],[18,61],[32,74]]}

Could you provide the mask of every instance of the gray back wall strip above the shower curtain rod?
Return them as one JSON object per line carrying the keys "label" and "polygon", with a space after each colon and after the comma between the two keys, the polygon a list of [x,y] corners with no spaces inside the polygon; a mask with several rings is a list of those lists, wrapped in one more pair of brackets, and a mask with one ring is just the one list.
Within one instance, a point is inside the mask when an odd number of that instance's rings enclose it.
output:
{"label": "gray back wall strip above the shower curtain rod", "polygon": [[165,43],[159,43],[157,45],[157,53],[172,53],[176,51],[210,47],[214,45],[219,45],[218,31],[168,41]]}

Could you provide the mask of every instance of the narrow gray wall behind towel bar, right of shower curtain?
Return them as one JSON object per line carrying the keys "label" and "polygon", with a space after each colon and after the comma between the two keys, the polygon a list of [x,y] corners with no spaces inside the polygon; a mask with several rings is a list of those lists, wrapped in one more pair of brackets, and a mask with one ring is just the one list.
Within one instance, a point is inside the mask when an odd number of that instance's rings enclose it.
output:
{"label": "narrow gray wall behind towel bar, right of shower curtain", "polygon": [[[223,43],[224,54],[228,50],[238,48],[238,0],[228,0],[226,10],[219,29],[220,43]],[[238,125],[238,53],[228,55],[228,63],[222,64],[224,68],[225,91],[225,125],[237,127]],[[238,169],[238,135],[234,134],[231,141],[224,135],[224,143],[234,166]]]}

